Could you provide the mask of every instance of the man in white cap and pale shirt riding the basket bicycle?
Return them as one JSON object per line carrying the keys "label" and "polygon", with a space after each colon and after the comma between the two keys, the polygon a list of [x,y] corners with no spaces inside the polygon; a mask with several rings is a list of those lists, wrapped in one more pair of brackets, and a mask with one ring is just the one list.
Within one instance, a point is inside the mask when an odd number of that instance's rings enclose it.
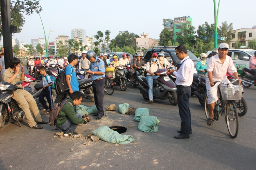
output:
{"label": "man in white cap and pale shirt riding the basket bicycle", "polygon": [[[227,79],[226,73],[229,71],[236,79],[239,79],[237,69],[233,64],[233,60],[228,56],[229,46],[227,43],[221,43],[218,48],[218,54],[212,56],[207,63],[207,76],[206,76],[206,89],[207,89],[207,103],[209,108],[209,119],[207,124],[211,126],[213,124],[213,109],[215,102],[218,100],[217,91],[218,87],[227,86],[220,82],[214,84],[215,81],[222,81],[224,83],[230,83]],[[239,83],[241,80],[239,79]]]}

